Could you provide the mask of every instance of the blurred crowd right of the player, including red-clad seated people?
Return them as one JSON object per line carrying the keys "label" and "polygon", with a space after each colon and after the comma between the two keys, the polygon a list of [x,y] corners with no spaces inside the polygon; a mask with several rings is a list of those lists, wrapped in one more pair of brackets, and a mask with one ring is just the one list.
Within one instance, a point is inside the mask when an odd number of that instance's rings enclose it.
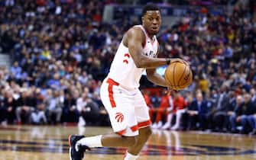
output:
{"label": "blurred crowd right of the player, including red-clad seated people", "polygon": [[202,8],[162,30],[161,56],[190,62],[194,81],[180,93],[145,98],[154,128],[256,133],[255,13],[255,3],[238,3],[232,14]]}

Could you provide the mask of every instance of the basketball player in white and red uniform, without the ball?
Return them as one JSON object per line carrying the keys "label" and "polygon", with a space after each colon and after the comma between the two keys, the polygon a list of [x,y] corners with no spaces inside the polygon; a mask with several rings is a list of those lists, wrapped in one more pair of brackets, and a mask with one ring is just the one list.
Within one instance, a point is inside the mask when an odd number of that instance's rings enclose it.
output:
{"label": "basketball player in white and red uniform, without the ball", "polygon": [[161,24],[157,6],[146,5],[141,20],[142,25],[131,27],[125,33],[109,75],[102,82],[100,95],[114,133],[92,137],[70,136],[70,160],[81,160],[86,149],[102,146],[126,147],[124,159],[136,159],[151,136],[148,107],[138,90],[141,74],[146,69],[151,82],[167,87],[156,68],[169,65],[170,62],[184,61],[156,58],[159,50],[156,34]]}

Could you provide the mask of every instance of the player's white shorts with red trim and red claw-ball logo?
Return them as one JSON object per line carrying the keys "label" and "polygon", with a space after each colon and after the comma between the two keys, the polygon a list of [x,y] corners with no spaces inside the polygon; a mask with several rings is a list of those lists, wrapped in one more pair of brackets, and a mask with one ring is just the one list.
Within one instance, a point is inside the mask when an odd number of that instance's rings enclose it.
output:
{"label": "player's white shorts with red trim and red claw-ball logo", "polygon": [[106,78],[102,83],[100,97],[115,133],[137,136],[138,129],[151,125],[147,104],[138,89],[128,91],[118,82]]}

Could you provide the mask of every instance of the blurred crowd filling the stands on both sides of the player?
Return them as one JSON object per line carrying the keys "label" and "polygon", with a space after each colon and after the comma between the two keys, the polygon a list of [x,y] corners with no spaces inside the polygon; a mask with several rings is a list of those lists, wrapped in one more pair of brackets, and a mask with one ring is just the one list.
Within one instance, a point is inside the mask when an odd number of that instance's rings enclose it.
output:
{"label": "blurred crowd filling the stands on both sides of the player", "polygon": [[[109,2],[0,2],[0,47],[13,59],[10,70],[0,69],[2,123],[109,125],[102,78],[125,30],[140,23],[102,23]],[[194,81],[170,95],[141,84],[153,127],[256,133],[255,5],[195,13],[158,34],[160,56],[186,59]]]}

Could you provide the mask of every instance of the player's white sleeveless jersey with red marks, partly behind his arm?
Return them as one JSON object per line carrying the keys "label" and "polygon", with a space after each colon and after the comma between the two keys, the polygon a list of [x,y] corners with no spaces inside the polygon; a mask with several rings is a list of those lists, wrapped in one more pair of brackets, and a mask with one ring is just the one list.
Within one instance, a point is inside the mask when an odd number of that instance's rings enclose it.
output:
{"label": "player's white sleeveless jersey with red marks, partly behind his arm", "polygon": [[[143,30],[144,32],[144,55],[149,57],[156,57],[158,49],[158,42],[156,36],[154,36],[153,40],[151,40],[142,25],[136,25],[134,27],[140,27],[141,30]],[[134,60],[131,58],[128,47],[126,47],[122,41],[115,54],[115,58],[112,62],[108,77],[112,78],[115,82],[118,82],[123,87],[134,90],[140,86],[139,82],[142,72],[144,72],[144,70],[145,69],[143,68],[137,68]]]}

